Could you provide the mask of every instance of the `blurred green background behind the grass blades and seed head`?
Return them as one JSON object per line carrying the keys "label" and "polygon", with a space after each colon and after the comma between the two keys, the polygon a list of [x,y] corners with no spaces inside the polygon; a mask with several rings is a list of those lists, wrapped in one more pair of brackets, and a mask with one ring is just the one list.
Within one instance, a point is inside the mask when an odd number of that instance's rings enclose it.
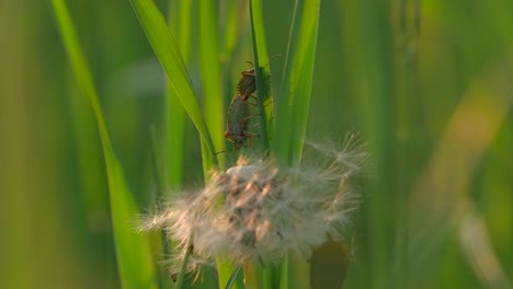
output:
{"label": "blurred green background behind the grass blades and seed head", "polygon": [[[246,4],[235,49],[219,56],[227,100],[252,57]],[[164,74],[128,1],[68,5],[128,184],[151,210]],[[286,54],[293,8],[263,1],[270,55]],[[360,131],[375,163],[344,288],[513,286],[512,14],[509,0],[322,1],[307,136]],[[275,92],[284,59],[271,62]],[[48,1],[0,2],[0,288],[118,288],[99,136]],[[193,185],[191,124],[186,136]]]}

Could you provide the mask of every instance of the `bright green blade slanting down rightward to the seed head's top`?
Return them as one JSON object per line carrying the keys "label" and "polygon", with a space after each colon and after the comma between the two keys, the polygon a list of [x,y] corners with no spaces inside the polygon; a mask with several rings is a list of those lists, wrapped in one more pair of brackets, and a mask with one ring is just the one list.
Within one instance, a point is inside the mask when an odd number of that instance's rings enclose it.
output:
{"label": "bright green blade slanting down rightward to the seed head's top", "polygon": [[[179,45],[168,30],[162,13],[151,0],[129,0],[142,30],[164,69],[170,86],[179,95],[202,139],[203,169],[208,172],[217,165],[214,143],[208,134],[200,104],[194,97],[192,83],[183,62]],[[205,174],[205,177],[207,174]]]}

